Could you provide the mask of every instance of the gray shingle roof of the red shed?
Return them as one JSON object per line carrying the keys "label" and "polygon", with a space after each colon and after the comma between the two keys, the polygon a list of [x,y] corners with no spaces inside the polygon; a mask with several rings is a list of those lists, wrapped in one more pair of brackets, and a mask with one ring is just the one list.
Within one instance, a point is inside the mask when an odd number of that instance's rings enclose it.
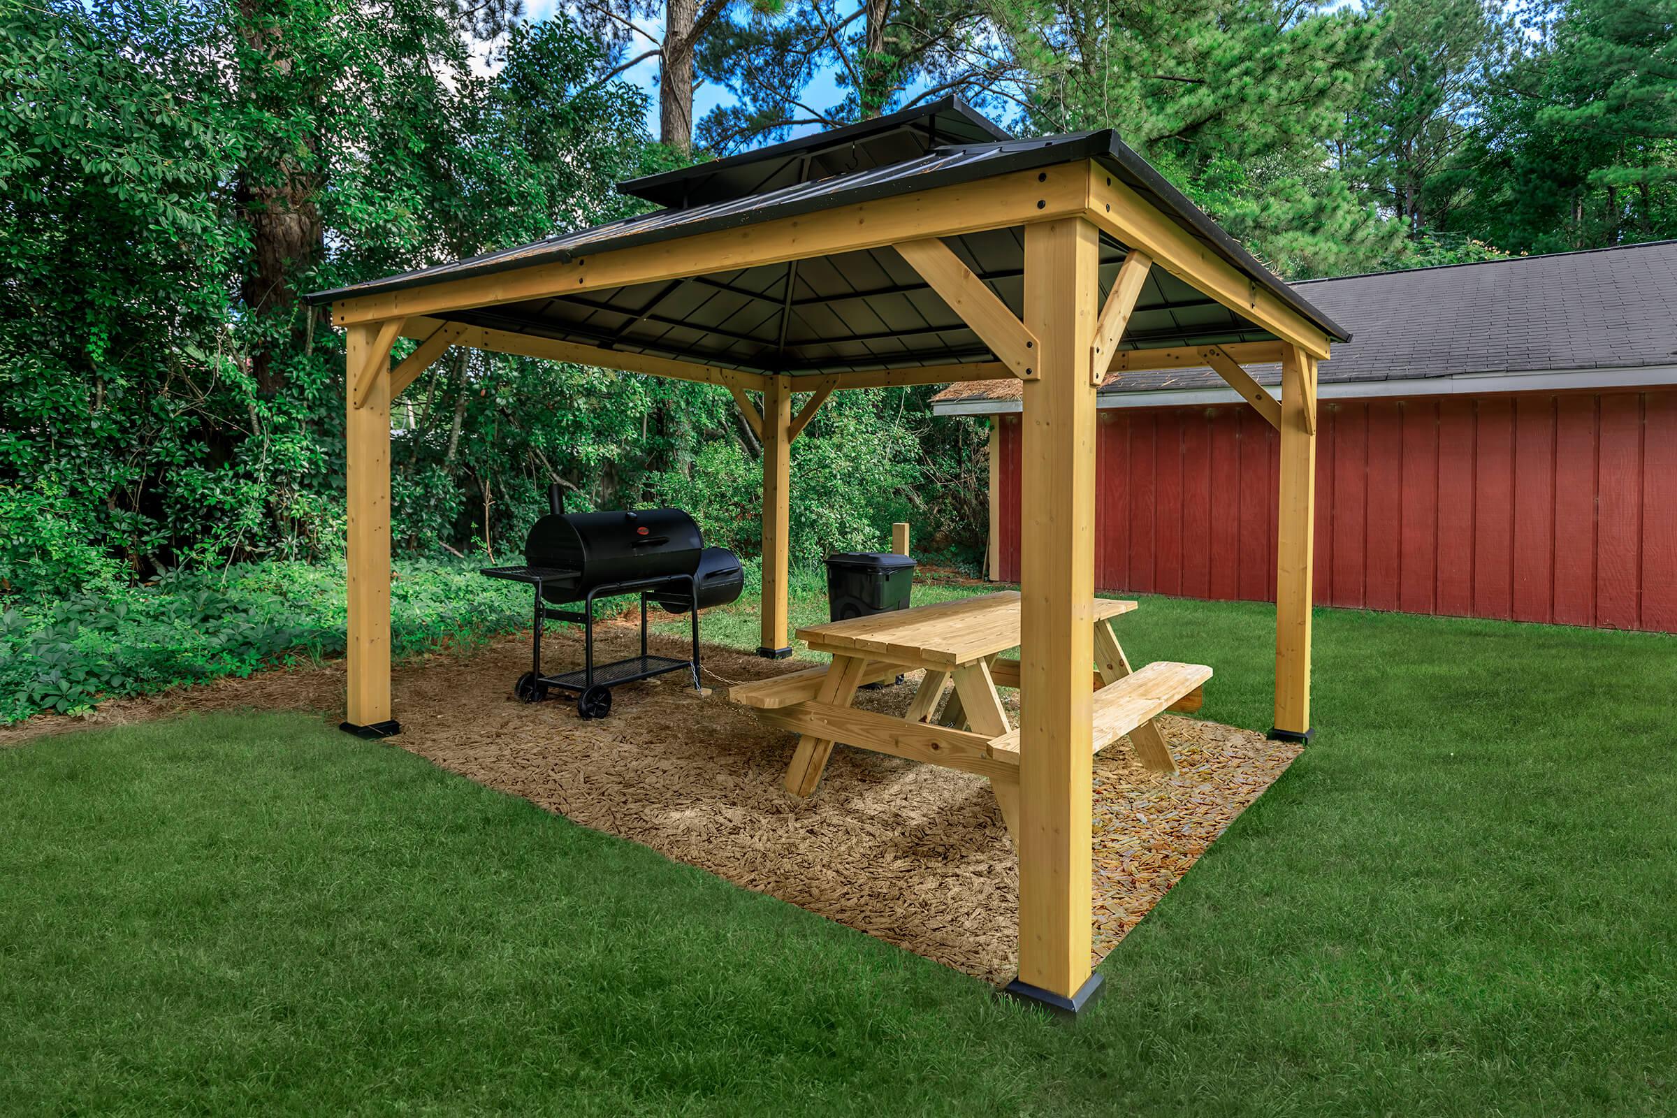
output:
{"label": "gray shingle roof of the red shed", "polygon": [[[1352,332],[1323,384],[1677,364],[1677,241],[1308,280],[1293,288]],[[1253,365],[1280,384],[1276,365]],[[1211,369],[1112,377],[1102,392],[1221,387]],[[1016,399],[1005,380],[936,399]]]}

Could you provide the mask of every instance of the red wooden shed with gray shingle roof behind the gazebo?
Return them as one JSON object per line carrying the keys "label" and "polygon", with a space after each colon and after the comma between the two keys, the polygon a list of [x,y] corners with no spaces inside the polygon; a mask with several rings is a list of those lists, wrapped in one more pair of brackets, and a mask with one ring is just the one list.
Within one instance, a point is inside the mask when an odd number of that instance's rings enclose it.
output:
{"label": "red wooden shed with gray shingle roof behind the gazebo", "polygon": [[[1318,605],[1677,632],[1677,241],[1293,287],[1353,335],[1320,370]],[[1015,582],[1018,384],[932,407],[991,419]],[[1275,427],[1211,369],[1115,372],[1098,407],[1097,585],[1273,600]]]}

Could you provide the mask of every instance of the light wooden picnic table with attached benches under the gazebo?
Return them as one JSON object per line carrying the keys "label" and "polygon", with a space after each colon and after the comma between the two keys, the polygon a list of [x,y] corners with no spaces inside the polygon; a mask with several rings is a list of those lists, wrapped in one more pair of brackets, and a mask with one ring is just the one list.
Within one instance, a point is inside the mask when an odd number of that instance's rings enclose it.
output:
{"label": "light wooden picnic table with attached benches under the gazebo", "polygon": [[[1093,603],[1093,753],[1129,736],[1144,766],[1169,773],[1176,763],[1152,719],[1167,709],[1199,709],[1211,669],[1160,660],[1132,670],[1112,619],[1134,608],[1135,602],[1112,598]],[[1020,686],[1020,662],[1001,655],[1020,644],[1016,590],[808,625],[798,639],[830,654],[832,664],[728,692],[770,726],[798,734],[787,791],[812,795],[833,744],[844,743],[988,776],[1008,831],[1018,838],[1020,731],[1010,726],[996,691]],[[902,716],[852,706],[857,687],[904,669],[924,669],[926,675]],[[954,694],[937,717],[951,686]]]}

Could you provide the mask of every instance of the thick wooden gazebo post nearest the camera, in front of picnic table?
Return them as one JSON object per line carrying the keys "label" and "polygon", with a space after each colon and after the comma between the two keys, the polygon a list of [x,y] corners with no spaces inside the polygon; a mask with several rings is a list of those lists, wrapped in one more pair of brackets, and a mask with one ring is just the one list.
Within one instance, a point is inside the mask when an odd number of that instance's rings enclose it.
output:
{"label": "thick wooden gazebo post nearest the camera, in front of picnic table", "polygon": [[1011,994],[1077,1012],[1090,974],[1095,384],[1100,240],[1080,218],[1025,228],[1020,603],[1020,977]]}

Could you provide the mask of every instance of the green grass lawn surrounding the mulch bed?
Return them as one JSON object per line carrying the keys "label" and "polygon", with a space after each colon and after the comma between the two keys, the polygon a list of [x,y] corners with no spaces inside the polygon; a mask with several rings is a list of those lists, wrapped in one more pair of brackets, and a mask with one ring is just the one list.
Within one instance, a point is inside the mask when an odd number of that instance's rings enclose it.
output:
{"label": "green grass lawn surrounding the mulch bed", "polygon": [[[1119,624],[1268,727],[1268,607]],[[1316,744],[1075,1029],[307,717],[45,739],[0,753],[0,1110],[1670,1115],[1674,681],[1318,612]]]}

